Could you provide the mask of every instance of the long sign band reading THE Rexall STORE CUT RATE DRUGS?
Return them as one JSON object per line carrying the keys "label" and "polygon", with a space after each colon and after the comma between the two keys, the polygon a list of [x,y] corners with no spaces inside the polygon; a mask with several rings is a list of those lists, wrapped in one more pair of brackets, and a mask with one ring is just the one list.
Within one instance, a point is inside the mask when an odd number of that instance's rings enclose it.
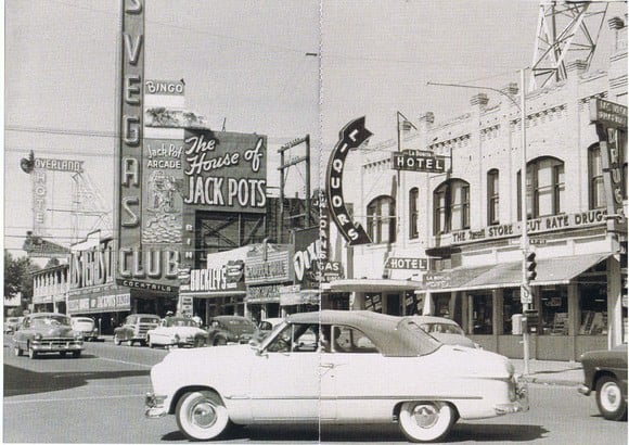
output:
{"label": "long sign band reading THE Rexall STORE CUT RATE DRUGS", "polygon": [[[601,226],[605,224],[606,216],[607,211],[605,209],[544,216],[542,218],[529,219],[527,221],[527,232],[529,234],[539,234],[557,230]],[[465,244],[476,241],[518,237],[519,234],[519,223],[511,223],[480,229],[458,230],[453,231],[451,237],[452,244]]]}

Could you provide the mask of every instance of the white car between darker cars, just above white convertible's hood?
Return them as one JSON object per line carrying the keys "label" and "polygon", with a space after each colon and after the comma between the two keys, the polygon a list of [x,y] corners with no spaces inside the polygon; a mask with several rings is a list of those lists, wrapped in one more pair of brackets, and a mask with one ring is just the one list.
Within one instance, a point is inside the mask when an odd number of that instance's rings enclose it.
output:
{"label": "white car between darker cars, just above white convertible's hood", "polygon": [[207,332],[192,318],[166,317],[157,328],[146,332],[146,342],[149,347],[201,347],[207,343]]}

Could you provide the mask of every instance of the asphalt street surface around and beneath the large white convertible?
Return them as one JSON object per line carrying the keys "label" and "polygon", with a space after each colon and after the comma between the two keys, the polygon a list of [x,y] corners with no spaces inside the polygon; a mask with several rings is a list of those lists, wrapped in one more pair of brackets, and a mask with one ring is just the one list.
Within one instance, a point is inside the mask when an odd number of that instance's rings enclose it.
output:
{"label": "asphalt street surface around and beneath the large white convertible", "polygon": [[[172,416],[144,418],[151,366],[167,354],[88,343],[79,359],[15,357],[4,343],[4,443],[187,443]],[[625,444],[627,423],[608,422],[593,397],[565,384],[529,385],[528,412],[460,421],[448,443]],[[406,443],[396,424],[241,428],[214,443]]]}

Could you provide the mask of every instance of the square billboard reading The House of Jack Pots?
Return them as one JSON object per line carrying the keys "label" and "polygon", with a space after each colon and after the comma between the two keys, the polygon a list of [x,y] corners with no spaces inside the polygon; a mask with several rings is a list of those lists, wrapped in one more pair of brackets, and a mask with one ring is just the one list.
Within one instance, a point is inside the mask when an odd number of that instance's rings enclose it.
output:
{"label": "square billboard reading The House of Jack Pots", "polygon": [[265,213],[267,137],[185,130],[183,196],[197,209]]}

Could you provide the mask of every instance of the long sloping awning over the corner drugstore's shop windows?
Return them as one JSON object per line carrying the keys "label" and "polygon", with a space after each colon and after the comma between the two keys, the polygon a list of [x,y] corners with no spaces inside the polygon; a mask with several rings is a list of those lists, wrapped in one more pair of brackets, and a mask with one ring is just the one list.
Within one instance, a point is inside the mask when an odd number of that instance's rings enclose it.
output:
{"label": "long sloping awning over the corner drugstore's shop windows", "polygon": [[[567,284],[572,279],[609,256],[608,253],[574,255],[537,260],[537,278],[532,285]],[[446,272],[447,274],[447,272]],[[495,266],[455,268],[449,272],[449,283],[431,292],[473,291],[480,289],[517,288],[522,284],[522,262]]]}

